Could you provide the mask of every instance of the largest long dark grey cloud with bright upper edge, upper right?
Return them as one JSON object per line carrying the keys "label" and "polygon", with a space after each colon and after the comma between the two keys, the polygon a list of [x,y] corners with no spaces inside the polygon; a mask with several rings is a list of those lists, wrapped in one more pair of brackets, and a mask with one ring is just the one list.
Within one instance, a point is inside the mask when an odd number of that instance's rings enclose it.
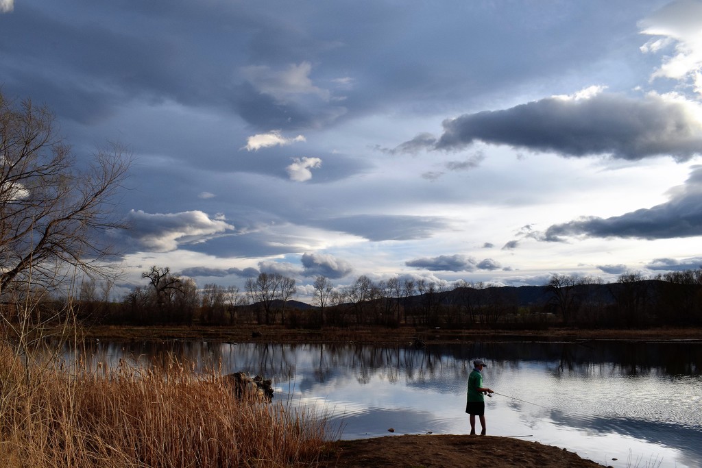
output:
{"label": "largest long dark grey cloud with bright upper edge, upper right", "polygon": [[702,149],[701,112],[697,103],[655,94],[639,100],[611,93],[555,96],[447,119],[438,141],[415,139],[396,150],[422,142],[425,149],[457,150],[481,141],[562,156],[686,161]]}

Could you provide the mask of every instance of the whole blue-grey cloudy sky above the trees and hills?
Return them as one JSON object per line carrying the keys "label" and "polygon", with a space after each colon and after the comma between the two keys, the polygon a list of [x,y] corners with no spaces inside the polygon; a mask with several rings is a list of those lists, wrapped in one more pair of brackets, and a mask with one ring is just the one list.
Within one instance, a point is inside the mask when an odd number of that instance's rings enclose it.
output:
{"label": "whole blue-grey cloudy sky above the trees and hills", "polygon": [[702,265],[702,2],[0,0],[0,90],[133,156],[121,290]]}

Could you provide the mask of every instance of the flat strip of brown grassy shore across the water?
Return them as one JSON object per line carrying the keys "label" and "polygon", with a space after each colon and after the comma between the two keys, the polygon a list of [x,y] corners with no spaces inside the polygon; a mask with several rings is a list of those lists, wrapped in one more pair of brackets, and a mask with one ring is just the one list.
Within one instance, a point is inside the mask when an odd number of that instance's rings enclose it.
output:
{"label": "flat strip of brown grassy shore across the water", "polygon": [[367,345],[460,344],[493,340],[582,341],[582,340],[702,340],[702,328],[649,328],[641,330],[581,329],[552,327],[543,330],[453,330],[448,328],[351,328],[298,329],[284,326],[245,324],[239,326],[90,326],[83,329],[87,340],[218,340],[280,344],[324,344],[354,342]]}

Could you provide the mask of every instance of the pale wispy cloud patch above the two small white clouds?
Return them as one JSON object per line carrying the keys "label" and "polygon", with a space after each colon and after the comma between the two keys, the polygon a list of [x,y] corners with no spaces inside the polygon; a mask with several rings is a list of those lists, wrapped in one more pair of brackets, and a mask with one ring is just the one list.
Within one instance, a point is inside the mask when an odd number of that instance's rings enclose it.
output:
{"label": "pale wispy cloud patch above the two small white clouds", "polygon": [[310,79],[312,64],[302,62],[291,64],[282,70],[274,70],[265,65],[241,67],[241,74],[260,93],[273,96],[279,102],[287,102],[296,95],[316,95],[329,100],[329,91],[318,88]]}

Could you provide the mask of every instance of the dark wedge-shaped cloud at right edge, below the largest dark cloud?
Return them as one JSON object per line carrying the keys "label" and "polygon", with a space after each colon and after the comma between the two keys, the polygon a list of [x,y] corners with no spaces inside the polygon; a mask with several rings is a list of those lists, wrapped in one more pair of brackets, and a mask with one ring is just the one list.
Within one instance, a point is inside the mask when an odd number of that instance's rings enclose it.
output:
{"label": "dark wedge-shaped cloud at right edge, below the largest dark cloud", "polygon": [[670,201],[611,218],[583,217],[546,229],[543,240],[566,236],[674,239],[702,236],[702,166],[693,166],[684,185],[671,191]]}

